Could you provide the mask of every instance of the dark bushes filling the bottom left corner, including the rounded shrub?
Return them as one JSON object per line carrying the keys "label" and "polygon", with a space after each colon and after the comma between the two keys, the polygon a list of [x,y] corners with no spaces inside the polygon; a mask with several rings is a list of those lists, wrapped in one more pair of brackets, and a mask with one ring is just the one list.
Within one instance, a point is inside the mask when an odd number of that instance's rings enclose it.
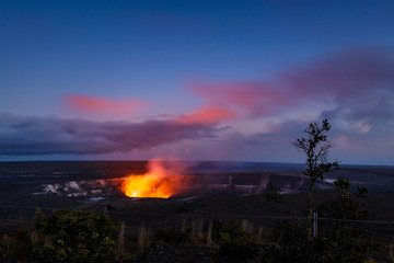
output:
{"label": "dark bushes filling the bottom left corner, including the rounded shrub", "polygon": [[113,262],[118,230],[103,213],[36,211],[33,229],[19,226],[2,233],[0,259],[4,262]]}

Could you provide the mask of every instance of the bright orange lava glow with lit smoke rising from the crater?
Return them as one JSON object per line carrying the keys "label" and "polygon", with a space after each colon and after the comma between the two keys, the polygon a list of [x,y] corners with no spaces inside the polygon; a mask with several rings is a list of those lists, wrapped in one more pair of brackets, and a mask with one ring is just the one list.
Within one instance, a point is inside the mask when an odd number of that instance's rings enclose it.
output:
{"label": "bright orange lava glow with lit smoke rising from the crater", "polygon": [[182,175],[176,174],[177,170],[164,168],[160,161],[151,161],[148,173],[131,174],[123,180],[121,192],[129,197],[169,198],[182,191]]}

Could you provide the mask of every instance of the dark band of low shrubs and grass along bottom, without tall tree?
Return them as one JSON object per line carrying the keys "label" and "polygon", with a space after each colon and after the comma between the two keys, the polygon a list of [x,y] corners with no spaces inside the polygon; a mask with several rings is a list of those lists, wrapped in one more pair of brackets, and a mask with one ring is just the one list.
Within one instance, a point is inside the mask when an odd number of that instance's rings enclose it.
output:
{"label": "dark band of low shrubs and grass along bottom, without tall tree", "polygon": [[[362,225],[364,192],[338,180],[336,195],[316,207],[318,237],[308,239],[296,219],[262,227],[253,218],[184,218],[173,227],[129,227],[103,213],[37,211],[34,225],[2,229],[2,262],[390,262],[390,248]],[[263,196],[262,196],[263,197]],[[308,197],[302,195],[299,197]],[[288,202],[283,198],[283,202]],[[279,204],[274,204],[278,206]],[[111,213],[109,213],[111,214]],[[291,214],[289,214],[291,216]],[[301,221],[306,221],[300,218]],[[171,226],[171,227],[170,227]],[[387,243],[389,245],[389,243]],[[306,250],[308,248],[308,250]],[[306,252],[308,251],[308,252]],[[384,256],[381,256],[382,254]],[[369,261],[368,261],[369,260]]]}

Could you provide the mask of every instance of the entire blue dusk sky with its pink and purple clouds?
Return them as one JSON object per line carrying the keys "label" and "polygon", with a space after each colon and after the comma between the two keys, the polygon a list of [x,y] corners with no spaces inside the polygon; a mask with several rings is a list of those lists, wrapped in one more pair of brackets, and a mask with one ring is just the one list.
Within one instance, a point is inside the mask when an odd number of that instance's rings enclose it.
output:
{"label": "entire blue dusk sky with its pink and purple clouds", "polygon": [[394,1],[0,0],[0,160],[394,165]]}

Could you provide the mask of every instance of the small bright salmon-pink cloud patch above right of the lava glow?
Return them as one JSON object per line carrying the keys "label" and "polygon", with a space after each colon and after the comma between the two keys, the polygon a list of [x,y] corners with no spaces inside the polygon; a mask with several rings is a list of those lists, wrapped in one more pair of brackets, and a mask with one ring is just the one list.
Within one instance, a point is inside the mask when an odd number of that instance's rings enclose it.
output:
{"label": "small bright salmon-pink cloud patch above right of the lava glow", "polygon": [[182,124],[213,125],[235,117],[236,114],[227,108],[209,106],[201,107],[192,114],[181,116],[176,118],[175,122]]}

